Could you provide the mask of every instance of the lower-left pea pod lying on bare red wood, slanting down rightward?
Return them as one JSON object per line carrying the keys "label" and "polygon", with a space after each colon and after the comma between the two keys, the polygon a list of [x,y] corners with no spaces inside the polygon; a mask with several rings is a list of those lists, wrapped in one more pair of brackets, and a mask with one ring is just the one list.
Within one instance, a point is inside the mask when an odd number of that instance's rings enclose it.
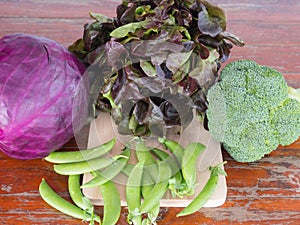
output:
{"label": "lower-left pea pod lying on bare red wood, slanting down rightward", "polygon": [[[56,194],[53,189],[47,184],[45,179],[42,179],[39,185],[39,192],[45,202],[66,215],[85,221],[91,221],[93,219],[90,214],[86,213],[84,210],[71,204],[70,202]],[[95,216],[94,220],[99,223],[101,222],[98,216]]]}

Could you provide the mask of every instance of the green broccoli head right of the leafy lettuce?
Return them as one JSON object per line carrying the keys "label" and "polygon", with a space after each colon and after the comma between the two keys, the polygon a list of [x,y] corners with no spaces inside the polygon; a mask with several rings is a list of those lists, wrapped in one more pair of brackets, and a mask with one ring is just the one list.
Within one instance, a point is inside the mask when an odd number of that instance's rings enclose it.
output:
{"label": "green broccoli head right of the leafy lettuce", "polygon": [[300,135],[300,89],[251,60],[229,63],[207,94],[208,129],[238,162],[254,162]]}

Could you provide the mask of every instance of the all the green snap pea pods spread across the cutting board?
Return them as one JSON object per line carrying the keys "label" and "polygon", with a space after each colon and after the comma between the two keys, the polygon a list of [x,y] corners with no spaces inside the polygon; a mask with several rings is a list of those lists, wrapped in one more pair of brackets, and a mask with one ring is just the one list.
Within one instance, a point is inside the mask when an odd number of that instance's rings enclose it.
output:
{"label": "all the green snap pea pods spread across the cutting board", "polygon": [[[120,193],[113,179],[125,174],[127,221],[134,225],[156,224],[160,200],[169,190],[173,197],[194,195],[197,158],[205,150],[201,143],[193,142],[185,148],[175,141],[159,138],[166,148],[148,148],[142,139],[135,147],[124,147],[118,155],[108,156],[116,140],[82,151],[53,152],[45,158],[54,163],[54,171],[67,175],[70,197],[74,204],[56,194],[43,179],[39,191],[41,197],[53,208],[84,221],[103,225],[117,223],[121,213]],[[136,164],[129,158],[135,154]],[[224,164],[224,163],[222,163]],[[201,192],[177,216],[186,216],[198,211],[214,193],[218,176],[225,175],[221,165],[210,167],[210,177]],[[81,185],[81,175],[91,173],[93,178]],[[99,187],[103,202],[103,217],[95,215],[90,199],[82,188]]]}

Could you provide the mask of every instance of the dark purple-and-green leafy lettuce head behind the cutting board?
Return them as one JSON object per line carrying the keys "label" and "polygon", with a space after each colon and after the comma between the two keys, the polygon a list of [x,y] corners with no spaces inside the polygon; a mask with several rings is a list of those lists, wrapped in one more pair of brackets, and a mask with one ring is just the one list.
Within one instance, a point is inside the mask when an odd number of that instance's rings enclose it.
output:
{"label": "dark purple-and-green leafy lettuce head behind the cutting board", "polygon": [[221,64],[244,45],[209,0],[123,0],[114,18],[90,16],[69,49],[91,65],[95,116],[109,111],[126,135],[161,136],[194,111],[204,117]]}

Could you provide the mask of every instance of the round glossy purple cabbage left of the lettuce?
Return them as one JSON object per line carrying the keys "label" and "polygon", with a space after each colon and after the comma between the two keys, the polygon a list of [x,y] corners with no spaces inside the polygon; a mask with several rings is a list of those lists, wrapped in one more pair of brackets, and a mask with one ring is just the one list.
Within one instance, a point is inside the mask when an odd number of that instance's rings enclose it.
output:
{"label": "round glossy purple cabbage left of the lettuce", "polygon": [[84,72],[72,53],[47,38],[0,39],[0,150],[43,158],[68,142],[87,119]]}

